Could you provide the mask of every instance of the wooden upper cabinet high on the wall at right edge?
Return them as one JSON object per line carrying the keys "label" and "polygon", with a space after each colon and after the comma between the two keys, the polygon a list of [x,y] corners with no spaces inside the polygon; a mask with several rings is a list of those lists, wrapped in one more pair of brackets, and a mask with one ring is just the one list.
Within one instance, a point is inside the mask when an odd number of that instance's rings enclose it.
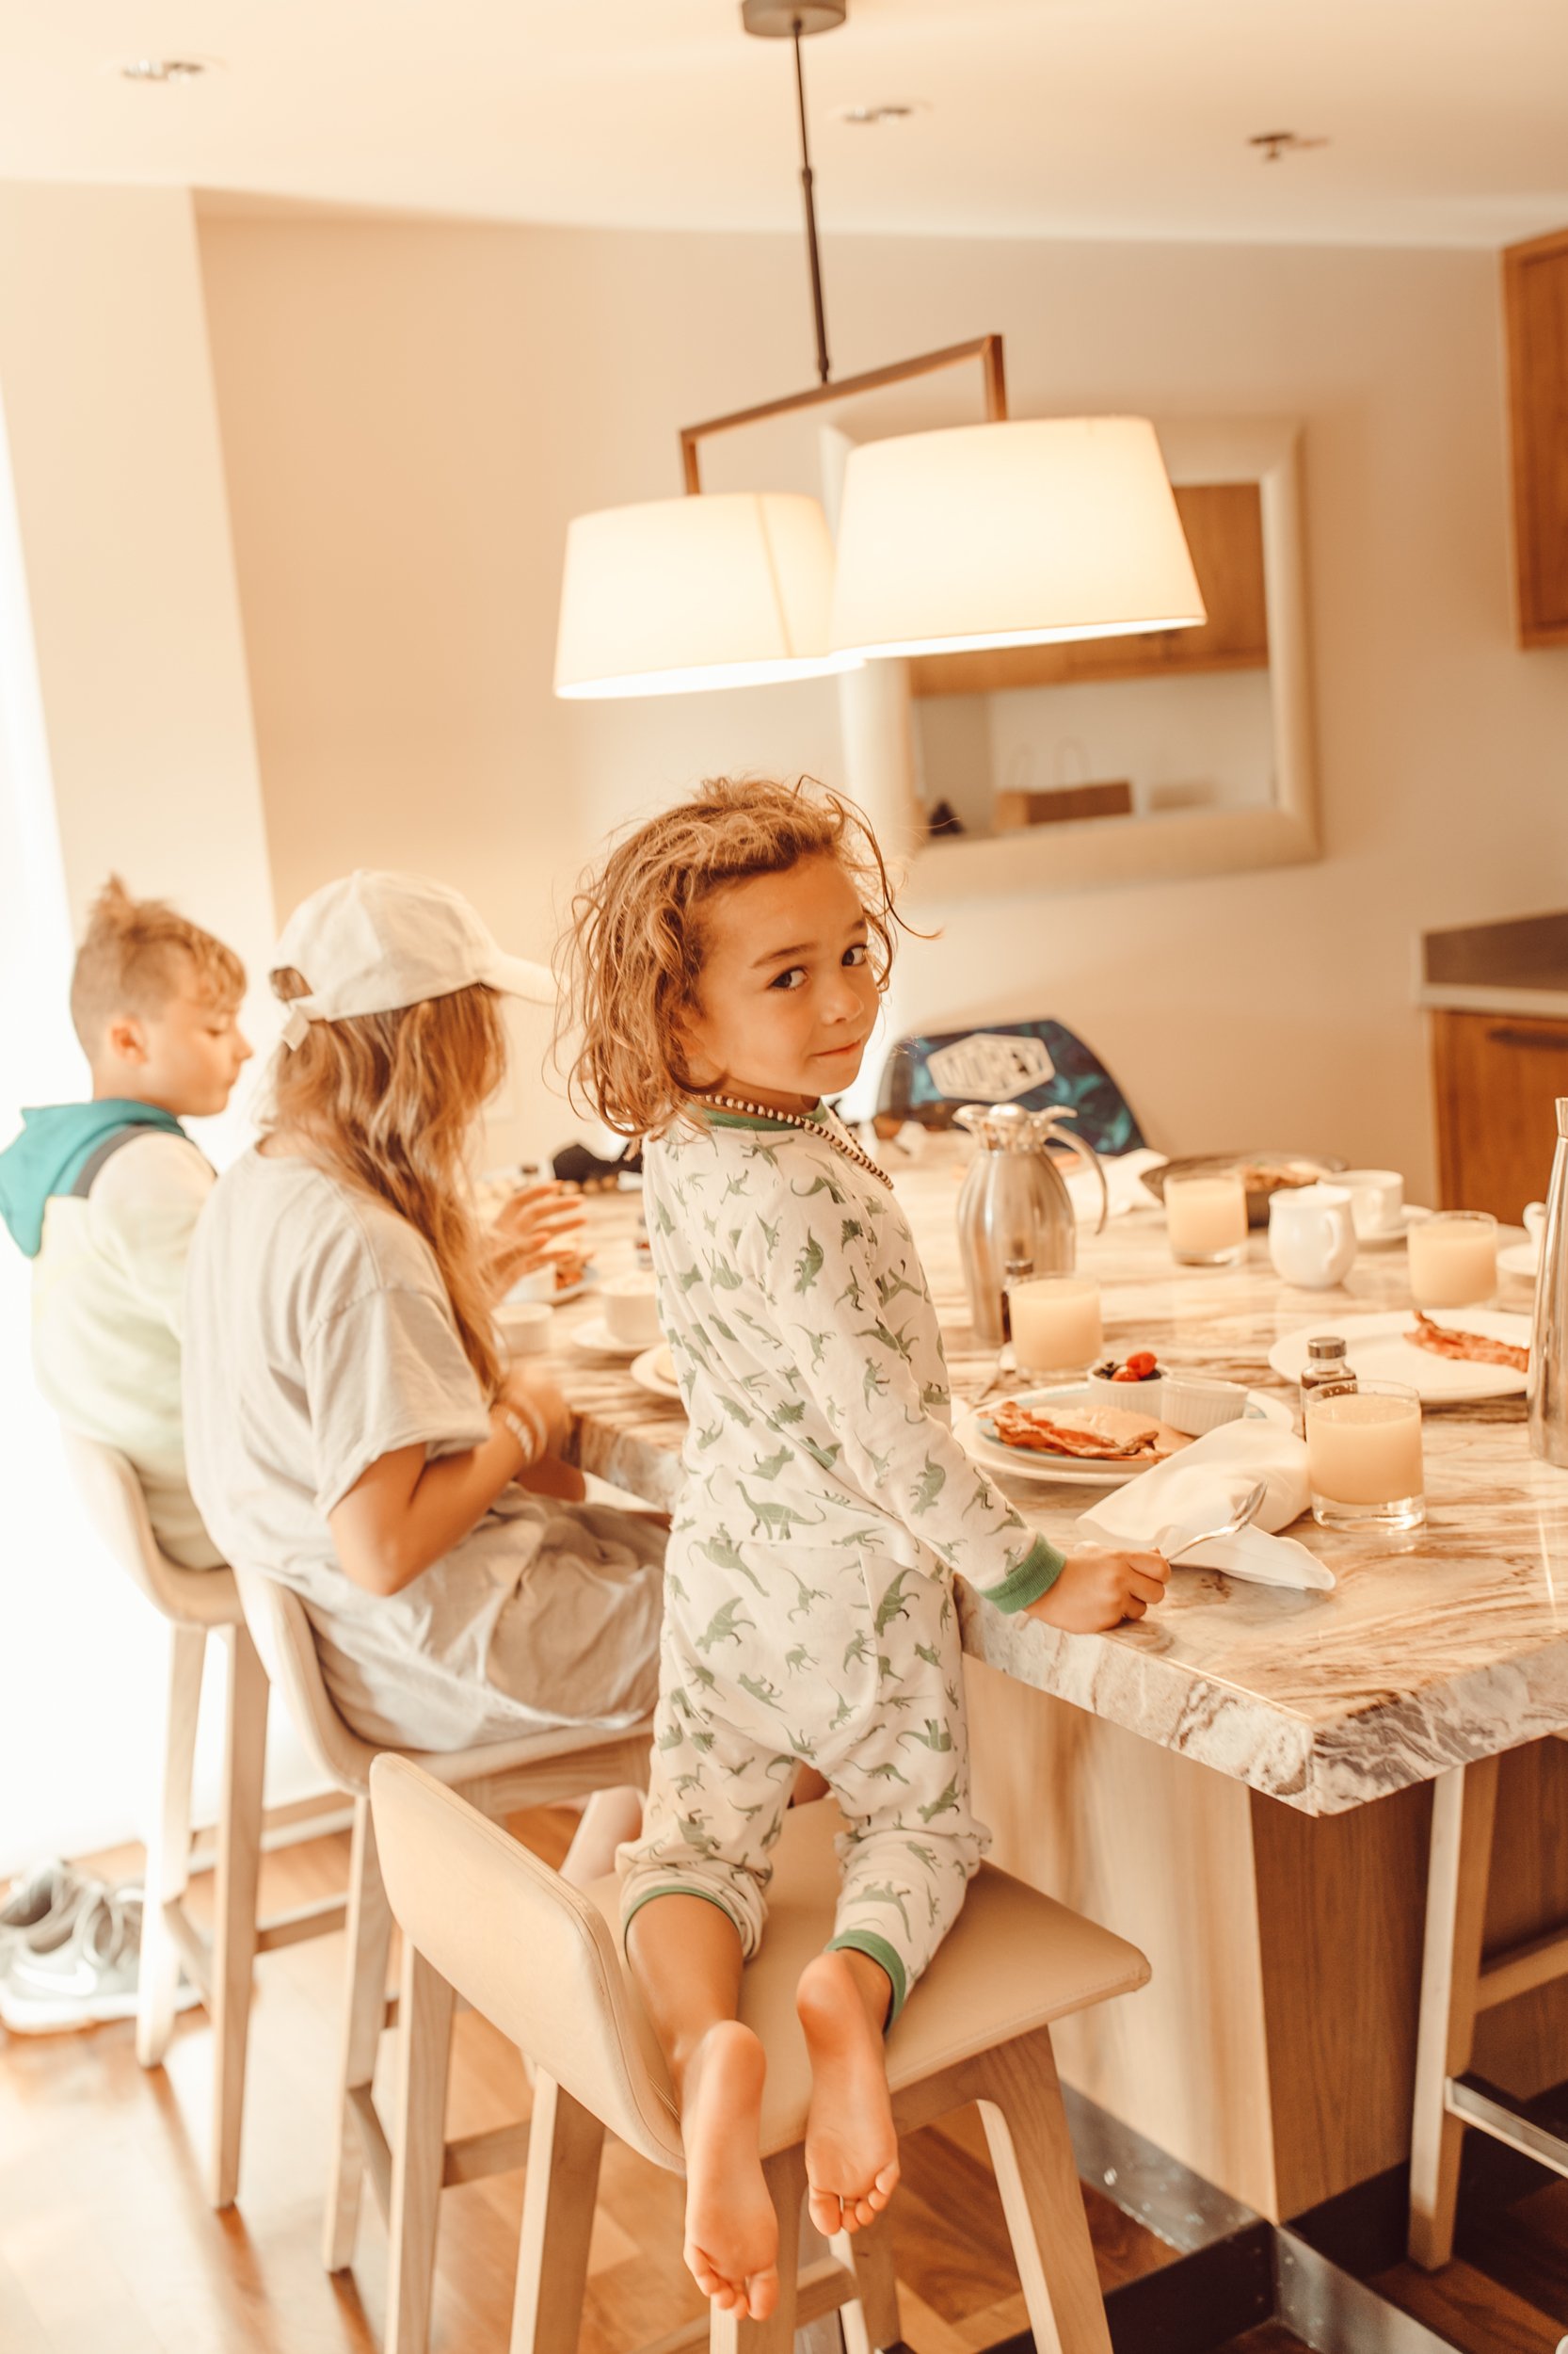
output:
{"label": "wooden upper cabinet high on the wall at right edge", "polygon": [[1568,228],[1502,257],[1519,643],[1568,645]]}

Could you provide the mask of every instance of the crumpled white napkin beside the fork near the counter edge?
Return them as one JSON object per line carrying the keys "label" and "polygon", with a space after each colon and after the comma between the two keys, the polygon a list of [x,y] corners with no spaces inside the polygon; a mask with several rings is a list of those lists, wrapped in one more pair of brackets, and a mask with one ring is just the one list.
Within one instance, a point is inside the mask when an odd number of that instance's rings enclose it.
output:
{"label": "crumpled white napkin beside the fork near the counter edge", "polygon": [[1144,1471],[1114,1488],[1102,1504],[1085,1511],[1078,1528],[1114,1544],[1149,1544],[1154,1551],[1177,1547],[1203,1528],[1227,1521],[1245,1502],[1257,1481],[1267,1481],[1262,1511],[1236,1537],[1203,1544],[1184,1554],[1177,1568],[1224,1570],[1227,1577],[1250,1577],[1260,1587],[1316,1587],[1330,1591],[1335,1572],[1295,1537],[1276,1537],[1307,1511],[1307,1443],[1281,1422],[1227,1422],[1194,1438],[1158,1471]]}

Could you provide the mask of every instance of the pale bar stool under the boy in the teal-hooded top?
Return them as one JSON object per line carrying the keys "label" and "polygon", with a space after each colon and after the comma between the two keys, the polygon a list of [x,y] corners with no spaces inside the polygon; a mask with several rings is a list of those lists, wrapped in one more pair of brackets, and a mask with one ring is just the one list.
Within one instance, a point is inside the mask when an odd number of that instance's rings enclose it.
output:
{"label": "pale bar stool under the boy in the teal-hooded top", "polygon": [[[304,1904],[273,1921],[257,1921],[266,1766],[266,1676],[245,1629],[231,1570],[181,1570],[160,1549],[148,1521],[141,1481],[125,1455],[64,1429],[66,1459],[104,1544],[146,1594],[170,1629],[158,1815],[146,1843],[146,1907],[137,1984],[137,2060],[158,2067],[174,2032],[179,1968],[200,1991],[217,2039],[212,2069],[212,2156],[207,2189],[219,2208],[233,2206],[240,2175],[245,2114],[245,2041],[257,1954],[344,1926],[341,1900]],[[217,1820],[217,1926],[205,1937],[186,1911],[193,1874],[212,1871],[212,1855],[193,1853],[191,1770],[202,1700],[207,1641],[228,1660],[224,1782]]]}

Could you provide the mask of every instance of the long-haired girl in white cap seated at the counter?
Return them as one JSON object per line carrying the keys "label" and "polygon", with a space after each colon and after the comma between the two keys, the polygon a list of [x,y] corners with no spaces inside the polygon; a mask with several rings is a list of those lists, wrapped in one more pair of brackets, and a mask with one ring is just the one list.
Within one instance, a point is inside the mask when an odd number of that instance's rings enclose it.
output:
{"label": "long-haired girl in white cap seated at the counter", "polygon": [[[261,1142],[191,1252],[186,1448],[224,1556],[290,1584],[365,1740],[461,1749],[638,1723],[664,1530],[582,1502],[565,1401],[501,1363],[466,1151],[506,1071],[501,998],[553,998],[457,892],[358,871],[290,918]],[[558,1215],[511,1236],[537,1250]],[[636,1827],[584,1820],[574,1876]]]}

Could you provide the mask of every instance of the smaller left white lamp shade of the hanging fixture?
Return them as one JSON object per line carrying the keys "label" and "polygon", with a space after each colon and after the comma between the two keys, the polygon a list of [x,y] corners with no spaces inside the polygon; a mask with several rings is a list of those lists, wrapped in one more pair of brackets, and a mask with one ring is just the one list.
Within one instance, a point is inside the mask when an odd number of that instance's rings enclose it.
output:
{"label": "smaller left white lamp shade of the hanging fixture", "polygon": [[852,671],[829,645],[833,541],[817,499],[723,492],[567,527],[556,694],[687,694]]}

